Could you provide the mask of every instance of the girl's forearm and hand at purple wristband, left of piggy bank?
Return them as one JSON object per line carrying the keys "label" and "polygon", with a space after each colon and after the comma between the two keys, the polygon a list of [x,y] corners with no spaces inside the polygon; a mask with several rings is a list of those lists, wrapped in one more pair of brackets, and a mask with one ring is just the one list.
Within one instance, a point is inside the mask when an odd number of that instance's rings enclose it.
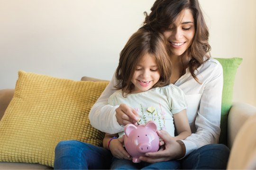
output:
{"label": "girl's forearm and hand at purple wristband, left of piggy bank", "polygon": [[[118,134],[108,134],[105,133],[105,137],[103,139],[103,147],[111,151],[112,155],[118,159],[128,159],[131,160],[131,156],[123,147],[124,136],[118,139],[112,139],[113,137],[118,137]],[[109,145],[109,147],[108,147]]]}

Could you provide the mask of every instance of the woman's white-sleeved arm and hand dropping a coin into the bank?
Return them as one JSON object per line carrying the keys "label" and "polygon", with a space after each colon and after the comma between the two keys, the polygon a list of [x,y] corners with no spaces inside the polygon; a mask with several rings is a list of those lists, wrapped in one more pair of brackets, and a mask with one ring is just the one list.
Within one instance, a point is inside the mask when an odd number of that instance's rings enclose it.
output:
{"label": "woman's white-sleeved arm and hand dropping a coin into the bank", "polygon": [[113,86],[118,84],[115,75],[116,73],[114,73],[109,85],[107,85],[97,102],[91,107],[89,113],[91,126],[110,134],[124,131],[124,128],[120,125],[134,123],[132,122],[133,119],[136,120],[139,117],[135,110],[125,104],[120,106],[108,104],[110,95],[116,92]]}

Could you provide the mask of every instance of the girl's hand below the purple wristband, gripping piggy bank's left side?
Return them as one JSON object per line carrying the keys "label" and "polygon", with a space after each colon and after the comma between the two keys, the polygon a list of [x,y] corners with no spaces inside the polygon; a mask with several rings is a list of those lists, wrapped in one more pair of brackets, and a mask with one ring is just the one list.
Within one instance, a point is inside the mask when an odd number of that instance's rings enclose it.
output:
{"label": "girl's hand below the purple wristband, gripping piggy bank's left side", "polygon": [[110,141],[109,148],[112,155],[118,159],[132,160],[129,153],[127,153],[126,150],[124,149],[123,143],[124,143],[124,136],[122,138],[112,139]]}

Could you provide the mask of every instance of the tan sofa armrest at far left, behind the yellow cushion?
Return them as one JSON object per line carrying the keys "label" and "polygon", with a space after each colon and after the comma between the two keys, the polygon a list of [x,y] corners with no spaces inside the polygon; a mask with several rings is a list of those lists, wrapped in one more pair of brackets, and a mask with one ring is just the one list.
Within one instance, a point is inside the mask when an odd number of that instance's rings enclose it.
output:
{"label": "tan sofa armrest at far left, behind the yellow cushion", "polygon": [[8,107],[13,95],[14,89],[0,90],[0,120],[2,119],[4,112]]}

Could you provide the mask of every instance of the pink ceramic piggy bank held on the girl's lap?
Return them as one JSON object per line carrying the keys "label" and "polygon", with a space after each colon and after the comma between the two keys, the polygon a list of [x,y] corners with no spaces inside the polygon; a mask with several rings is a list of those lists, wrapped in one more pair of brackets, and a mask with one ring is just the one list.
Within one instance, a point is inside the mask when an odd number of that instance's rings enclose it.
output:
{"label": "pink ceramic piggy bank held on the girl's lap", "polygon": [[128,124],[124,128],[124,144],[133,162],[140,162],[139,157],[145,153],[156,152],[159,149],[159,137],[156,133],[155,121],[148,121],[146,125]]}

